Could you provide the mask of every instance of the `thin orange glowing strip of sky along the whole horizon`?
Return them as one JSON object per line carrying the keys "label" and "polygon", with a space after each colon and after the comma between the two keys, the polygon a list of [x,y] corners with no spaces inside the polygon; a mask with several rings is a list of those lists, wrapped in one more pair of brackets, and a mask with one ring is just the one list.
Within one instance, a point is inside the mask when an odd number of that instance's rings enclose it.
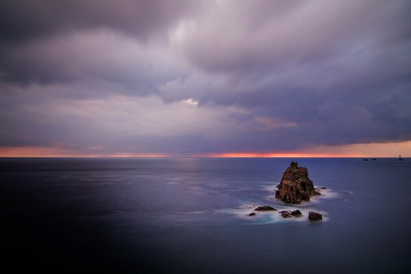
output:
{"label": "thin orange glowing strip of sky along the whole horizon", "polygon": [[86,151],[63,149],[61,147],[0,147],[0,157],[10,158],[403,158],[411,155],[411,141],[386,142],[371,144],[352,144],[340,146],[319,145],[301,151],[282,152],[245,152],[233,151],[222,153],[105,153],[102,147],[90,147]]}

